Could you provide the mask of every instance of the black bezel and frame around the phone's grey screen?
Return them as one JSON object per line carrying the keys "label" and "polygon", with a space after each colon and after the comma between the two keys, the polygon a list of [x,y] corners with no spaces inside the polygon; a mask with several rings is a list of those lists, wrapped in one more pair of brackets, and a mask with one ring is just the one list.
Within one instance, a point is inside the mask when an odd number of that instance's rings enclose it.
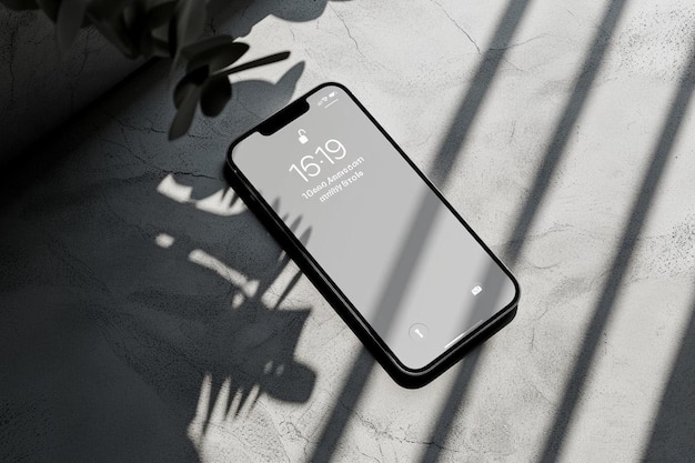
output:
{"label": "black bezel and frame around the phone's grey screen", "polygon": [[[454,345],[443,351],[436,359],[434,359],[427,365],[421,369],[410,369],[404,365],[391,351],[389,345],[381,339],[381,336],[372,329],[366,322],[360,311],[350,302],[350,300],[343,294],[340,288],[333,282],[331,276],[321,268],[321,265],[309,253],[304,244],[294,235],[294,233],[286,227],[282,219],[275,213],[272,207],[263,199],[255,187],[246,179],[241,172],[238,165],[234,163],[232,152],[236,145],[243,142],[252,133],[260,132],[260,128],[263,124],[268,124],[273,118],[284,117],[291,112],[294,105],[304,105],[306,99],[320,91],[325,87],[338,87],[343,90],[352,101],[357,104],[362,112],[370,119],[370,121],[379,129],[383,137],[395,148],[401,157],[407,162],[417,175],[425,182],[425,184],[436,194],[437,199],[447,208],[447,210],[465,227],[475,241],[485,250],[487,255],[503,270],[503,272],[510,278],[514,285],[514,298],[512,302],[496,312],[493,316],[481,323],[476,329],[472,330],[463,339],[459,340]],[[309,109],[311,110],[311,108]],[[306,112],[302,111],[299,115]],[[299,117],[298,115],[298,117]],[[294,118],[296,119],[296,118]],[[284,122],[284,125],[290,123],[290,119]],[[272,125],[272,124],[271,124]],[[276,129],[280,130],[282,127]],[[269,137],[269,135],[264,135]],[[234,190],[240,194],[242,200],[246,203],[249,209],[255,213],[255,215],[264,223],[264,225],[272,232],[273,236],[280,242],[281,246],[295,260],[299,268],[306,274],[311,282],[316,286],[321,294],[328,300],[328,302],[335,309],[341,318],[350,325],[350,328],[357,334],[360,340],[372,351],[375,358],[382,363],[386,372],[401,385],[406,387],[419,387],[434,378],[439,376],[446,369],[457,362],[462,356],[469,353],[474,346],[487,340],[495,334],[498,330],[504,328],[515,316],[516,308],[521,296],[521,288],[518,282],[512,274],[512,272],[504,265],[504,263],[487,248],[487,245],[481,240],[481,238],[473,231],[473,229],[466,223],[466,221],[456,212],[456,210],[446,201],[440,190],[430,181],[430,179],[413,163],[413,161],[405,154],[405,152],[399,147],[399,144],[391,138],[391,135],[381,127],[381,124],[374,119],[374,117],[364,108],[364,105],[357,100],[357,98],[343,84],[338,82],[325,82],[294,101],[286,104],[280,111],[275,112],[271,117],[266,118],[261,123],[256,124],[251,130],[244,132],[236,138],[229,147],[226,152],[226,163],[232,174],[230,183]],[[338,305],[338,306],[336,306]],[[345,313],[348,312],[348,313]],[[386,364],[384,364],[386,362]]]}

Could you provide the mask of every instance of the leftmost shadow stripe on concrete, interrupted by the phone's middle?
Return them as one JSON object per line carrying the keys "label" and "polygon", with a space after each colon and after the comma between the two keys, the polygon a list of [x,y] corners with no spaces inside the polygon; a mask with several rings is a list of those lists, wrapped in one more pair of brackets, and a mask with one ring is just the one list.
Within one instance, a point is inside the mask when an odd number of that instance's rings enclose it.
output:
{"label": "leftmost shadow stripe on concrete, interrupted by the phone's middle", "polygon": [[[528,3],[530,0],[510,1],[496,27],[493,36],[494,39],[491,43],[506,44],[511,42]],[[435,184],[439,184],[440,187],[445,184],[451,167],[457,159],[475,115],[477,114],[485,95],[492,87],[492,82],[505,53],[506,48],[504,47],[488,49],[482,58],[470,90],[463,99],[456,115],[453,118],[444,142],[442,143],[434,160],[434,168],[433,171],[430,172],[429,177]],[[351,368],[351,372],[343,385],[343,389],[338,395],[339,399],[336,399],[336,403],[333,405],[331,416],[323,429],[310,461],[331,460],[350,420],[350,415],[362,395],[366,378],[369,378],[373,366],[374,358],[366,351],[366,349],[362,348],[356,361]]]}

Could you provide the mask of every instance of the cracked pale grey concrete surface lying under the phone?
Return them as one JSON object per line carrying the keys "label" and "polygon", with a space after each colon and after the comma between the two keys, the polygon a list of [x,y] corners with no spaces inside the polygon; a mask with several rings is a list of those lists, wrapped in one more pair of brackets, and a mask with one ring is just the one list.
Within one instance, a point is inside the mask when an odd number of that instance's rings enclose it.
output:
{"label": "cracked pale grey concrete surface lying under the phone", "polygon": [[[292,57],[222,117],[167,142],[155,63],[3,170],[0,460],[692,461],[695,7],[243,7],[214,28]],[[421,390],[226,191],[228,143],[326,80],[522,284]]]}

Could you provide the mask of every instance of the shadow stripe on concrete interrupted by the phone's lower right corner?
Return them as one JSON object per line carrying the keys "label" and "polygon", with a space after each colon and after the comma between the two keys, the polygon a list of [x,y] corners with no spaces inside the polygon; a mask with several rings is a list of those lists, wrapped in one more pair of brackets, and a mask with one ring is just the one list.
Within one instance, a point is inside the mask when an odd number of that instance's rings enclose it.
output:
{"label": "shadow stripe on concrete interrupted by the phone's lower right corner", "polygon": [[[625,2],[625,0],[614,0],[607,7],[602,24],[598,27],[598,31],[594,37],[592,44],[588,47],[587,56],[581,68],[581,73],[575,80],[572,95],[565,105],[562,117],[558,119],[557,127],[553,132],[551,145],[543,157],[543,161],[536,173],[531,193],[526,199],[524,208],[514,225],[511,234],[512,239],[508,241],[510,244],[503,252],[502,256],[510,266],[514,266],[518,260],[521,251],[525,244],[526,234],[528,233],[533,219],[547,192],[550,180],[556,171],[563,154],[565,153],[565,145],[567,144],[572,129],[574,128],[582,109],[584,108]],[[434,426],[432,436],[429,440],[429,442],[432,442],[435,445],[430,445],[426,449],[421,461],[435,462],[440,459],[440,454],[449,434],[451,433],[456,414],[464,403],[461,401],[461,397],[467,390],[470,378],[475,371],[475,366],[481,356],[482,353],[473,358],[471,363],[466,364],[466,366],[463,368],[456,376],[456,380],[454,381],[447,395],[447,400],[441,409],[440,417]]]}

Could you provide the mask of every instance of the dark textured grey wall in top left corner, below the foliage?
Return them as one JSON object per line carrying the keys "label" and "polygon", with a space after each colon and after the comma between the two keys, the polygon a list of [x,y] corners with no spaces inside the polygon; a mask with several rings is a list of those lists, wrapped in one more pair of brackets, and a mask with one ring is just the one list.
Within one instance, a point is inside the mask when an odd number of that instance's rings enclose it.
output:
{"label": "dark textured grey wall in top left corner, below the foliage", "polygon": [[123,58],[93,28],[61,57],[46,14],[0,6],[0,165],[141,63]]}

